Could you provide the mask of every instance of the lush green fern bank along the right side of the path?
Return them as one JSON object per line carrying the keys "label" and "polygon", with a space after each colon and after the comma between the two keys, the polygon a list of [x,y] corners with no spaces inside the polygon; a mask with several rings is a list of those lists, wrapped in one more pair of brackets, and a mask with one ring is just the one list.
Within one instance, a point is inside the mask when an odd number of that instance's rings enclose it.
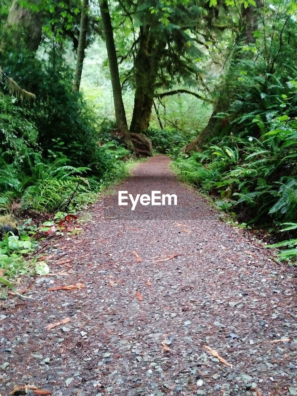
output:
{"label": "lush green fern bank along the right side of the path", "polygon": [[219,194],[242,221],[277,225],[297,220],[295,118],[270,111],[266,122],[259,117],[241,118],[241,125],[244,122],[257,125],[259,138],[247,136],[247,129],[236,137],[223,137],[201,153],[180,156],[175,162],[179,174],[204,191]]}

